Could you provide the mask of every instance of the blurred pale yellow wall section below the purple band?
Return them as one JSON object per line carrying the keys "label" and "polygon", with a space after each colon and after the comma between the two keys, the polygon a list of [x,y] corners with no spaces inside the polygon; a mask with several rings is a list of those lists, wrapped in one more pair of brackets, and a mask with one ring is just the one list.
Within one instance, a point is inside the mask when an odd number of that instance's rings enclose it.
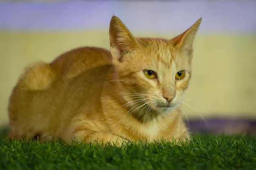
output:
{"label": "blurred pale yellow wall section below the purple band", "polygon": [[[144,36],[145,33],[135,35]],[[255,45],[256,34],[199,33],[194,43],[193,77],[185,97],[189,99],[189,105],[205,118],[256,119]],[[0,31],[0,126],[8,123],[8,97],[25,66],[38,60],[50,62],[61,53],[79,46],[108,49],[108,31]],[[200,118],[195,110],[187,106],[184,109],[189,118]]]}

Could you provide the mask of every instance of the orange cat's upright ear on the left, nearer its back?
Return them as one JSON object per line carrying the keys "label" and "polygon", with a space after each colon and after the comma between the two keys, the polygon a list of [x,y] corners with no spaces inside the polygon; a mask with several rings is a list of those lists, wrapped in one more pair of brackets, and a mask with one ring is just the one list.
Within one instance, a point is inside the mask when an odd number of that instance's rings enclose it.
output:
{"label": "orange cat's upright ear on the left, nearer its back", "polygon": [[114,58],[121,60],[125,53],[136,49],[138,42],[124,23],[116,16],[112,16],[109,27],[110,52]]}

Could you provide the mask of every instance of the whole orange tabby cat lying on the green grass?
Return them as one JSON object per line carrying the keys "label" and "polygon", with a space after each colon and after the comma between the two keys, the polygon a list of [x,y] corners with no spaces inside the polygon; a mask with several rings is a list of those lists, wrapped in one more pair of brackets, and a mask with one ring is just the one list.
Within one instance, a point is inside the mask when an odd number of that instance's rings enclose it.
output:
{"label": "whole orange tabby cat lying on the green grass", "polygon": [[201,18],[166,40],[135,38],[116,16],[110,51],[81,47],[27,67],[9,99],[9,137],[64,141],[186,141],[180,106]]}

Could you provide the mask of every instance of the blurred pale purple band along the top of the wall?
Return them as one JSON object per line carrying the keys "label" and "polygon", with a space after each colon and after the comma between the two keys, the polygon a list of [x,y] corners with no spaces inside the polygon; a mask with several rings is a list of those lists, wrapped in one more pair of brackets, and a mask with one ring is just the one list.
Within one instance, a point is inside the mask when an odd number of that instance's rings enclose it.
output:
{"label": "blurred pale purple band along the top of the wall", "polygon": [[256,1],[248,0],[0,2],[0,29],[105,29],[113,14],[132,31],[180,31],[202,17],[202,32],[256,33]]}

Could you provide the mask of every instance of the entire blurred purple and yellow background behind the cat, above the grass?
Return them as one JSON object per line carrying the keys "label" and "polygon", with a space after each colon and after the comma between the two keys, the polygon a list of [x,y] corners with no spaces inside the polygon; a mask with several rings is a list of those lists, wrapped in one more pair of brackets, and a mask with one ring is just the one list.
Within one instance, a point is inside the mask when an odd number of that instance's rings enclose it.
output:
{"label": "entire blurred purple and yellow background behind the cat, above the grass", "polygon": [[[256,1],[0,1],[0,128],[25,66],[80,46],[109,49],[118,16],[135,36],[171,39],[202,17],[184,110],[192,132],[256,132]],[[202,118],[204,117],[204,118]],[[205,120],[208,122],[205,122]]]}

